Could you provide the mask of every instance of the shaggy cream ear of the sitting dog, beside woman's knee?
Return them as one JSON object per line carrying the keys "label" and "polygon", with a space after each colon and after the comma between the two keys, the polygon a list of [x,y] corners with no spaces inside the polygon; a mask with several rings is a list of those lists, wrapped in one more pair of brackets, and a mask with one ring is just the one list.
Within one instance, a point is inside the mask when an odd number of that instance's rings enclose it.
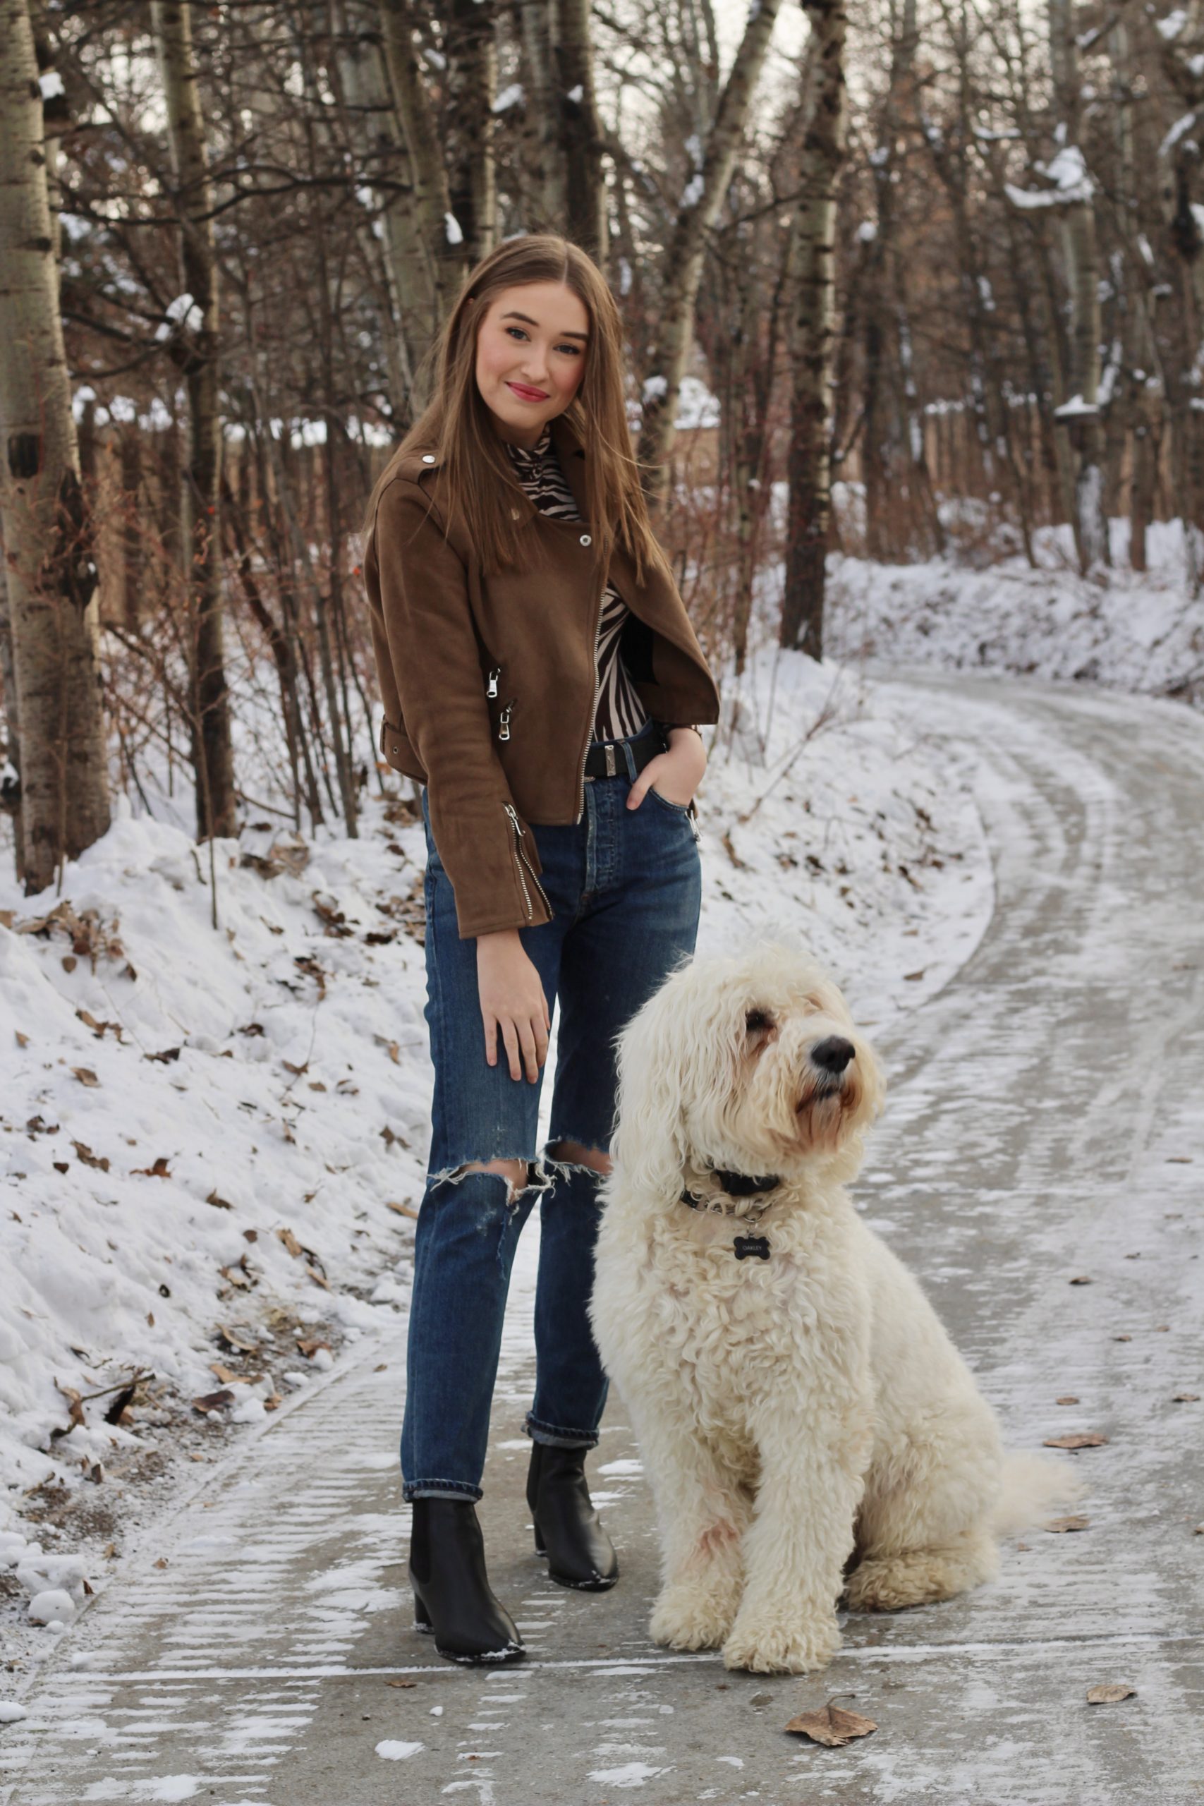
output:
{"label": "shaggy cream ear of the sitting dog, beside woman's knee", "polygon": [[623,1029],[614,1165],[623,1188],[668,1208],[681,1197],[686,1167],[682,1100],[697,1047],[690,1033],[686,977],[670,977]]}

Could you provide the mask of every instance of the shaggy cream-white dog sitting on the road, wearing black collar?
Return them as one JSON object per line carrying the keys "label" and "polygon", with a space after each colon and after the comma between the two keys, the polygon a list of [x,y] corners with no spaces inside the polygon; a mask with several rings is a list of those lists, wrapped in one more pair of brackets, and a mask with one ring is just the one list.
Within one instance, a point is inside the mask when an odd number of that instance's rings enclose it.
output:
{"label": "shaggy cream-white dog sitting on the road, wearing black collar", "polygon": [[1052,1463],[1004,1456],[928,1299],[852,1208],[881,1096],[841,993],[780,945],[677,970],[619,1044],[590,1320],[657,1503],[652,1636],[722,1645],[729,1669],[823,1667],[841,1591],[949,1598],[1072,1494]]}

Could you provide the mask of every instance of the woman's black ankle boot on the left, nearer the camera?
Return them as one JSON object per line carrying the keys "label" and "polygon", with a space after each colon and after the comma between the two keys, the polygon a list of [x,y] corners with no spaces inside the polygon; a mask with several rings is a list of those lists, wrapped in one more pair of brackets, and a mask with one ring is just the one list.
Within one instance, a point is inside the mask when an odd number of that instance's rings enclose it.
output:
{"label": "woman's black ankle boot on the left, nearer the camera", "polygon": [[514,1620],[489,1589],[471,1499],[415,1499],[410,1528],[413,1624],[448,1662],[522,1662]]}

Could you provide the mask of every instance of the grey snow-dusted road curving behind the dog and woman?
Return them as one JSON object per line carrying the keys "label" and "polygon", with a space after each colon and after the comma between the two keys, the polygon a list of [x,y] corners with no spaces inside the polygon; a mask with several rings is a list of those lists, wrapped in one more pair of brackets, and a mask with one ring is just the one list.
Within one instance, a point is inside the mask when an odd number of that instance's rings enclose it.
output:
{"label": "grey snow-dusted road curving behind the dog and woman", "polygon": [[[859,1197],[1013,1443],[1107,1438],[1060,1457],[1088,1528],[1007,1544],[971,1598],[850,1618],[805,1683],[655,1651],[655,1539],[617,1401],[594,1472],[621,1584],[563,1593],[531,1557],[529,1246],[482,1517],[533,1660],[457,1671],[410,1629],[403,1345],[377,1342],[123,1564],[63,1645],[78,1665],[47,1672],[0,1739],[4,1802],[1204,1797],[1204,1401],[1175,1401],[1204,1394],[1204,721],[960,675],[892,703],[973,786],[996,910],[957,979],[881,1037],[892,1096]],[[1088,1707],[1097,1681],[1135,1698]],[[782,1734],[832,1694],[877,1734],[845,1750]]]}

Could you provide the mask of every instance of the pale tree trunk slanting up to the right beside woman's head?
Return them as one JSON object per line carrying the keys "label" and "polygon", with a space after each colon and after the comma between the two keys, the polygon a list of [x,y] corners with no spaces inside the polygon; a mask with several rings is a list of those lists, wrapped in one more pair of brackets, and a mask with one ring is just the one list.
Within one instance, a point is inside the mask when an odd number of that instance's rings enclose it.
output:
{"label": "pale tree trunk slanting up to the right beside woman's head", "polygon": [[731,182],[753,90],[780,5],[782,0],[755,0],[749,11],[736,60],[702,150],[700,168],[681,199],[677,224],[664,255],[661,323],[644,381],[644,423],[639,437],[639,459],[646,468],[644,480],[653,500],[664,497],[670,480],[668,461],[673,452],[681,383],[693,343],[693,314],[706,242]]}

